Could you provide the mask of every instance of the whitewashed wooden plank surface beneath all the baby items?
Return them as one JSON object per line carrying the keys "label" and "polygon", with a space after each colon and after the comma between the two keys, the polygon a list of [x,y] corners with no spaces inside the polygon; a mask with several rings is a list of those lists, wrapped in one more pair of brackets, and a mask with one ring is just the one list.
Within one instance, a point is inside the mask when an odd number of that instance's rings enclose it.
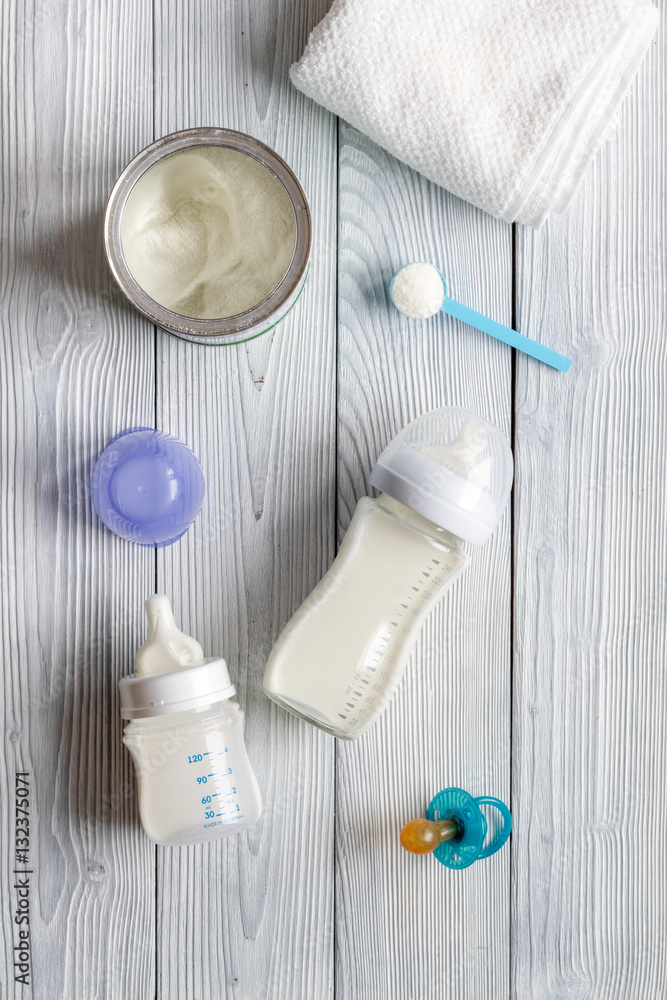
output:
{"label": "whitewashed wooden plank surface beneath all the baby items", "polygon": [[[326,0],[7,0],[2,31],[0,1000],[667,996],[664,29],[567,216],[490,219],[305,100],[290,62]],[[313,208],[306,293],[273,335],[153,331],[108,276],[101,215],[154,136],[227,125]],[[572,352],[540,368],[387,305],[394,268]],[[462,403],[514,439],[514,506],[430,618],[380,723],[336,744],[261,693],[381,448]],[[208,493],[157,561],[88,482],[155,422]],[[155,585],[222,652],[247,710],[257,829],[155,849],[117,681]],[[33,986],[12,973],[14,773],[32,774]],[[449,784],[510,802],[511,849],[405,855]]]}

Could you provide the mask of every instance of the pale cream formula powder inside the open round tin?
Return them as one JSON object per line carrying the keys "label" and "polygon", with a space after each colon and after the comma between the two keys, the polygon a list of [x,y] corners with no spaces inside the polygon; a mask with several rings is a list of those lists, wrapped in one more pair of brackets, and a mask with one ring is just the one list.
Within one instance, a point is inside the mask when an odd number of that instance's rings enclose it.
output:
{"label": "pale cream formula powder inside the open round tin", "polygon": [[284,187],[263,164],[204,146],[165,157],[137,181],[121,235],[151,298],[181,316],[222,319],[280,284],[296,223]]}

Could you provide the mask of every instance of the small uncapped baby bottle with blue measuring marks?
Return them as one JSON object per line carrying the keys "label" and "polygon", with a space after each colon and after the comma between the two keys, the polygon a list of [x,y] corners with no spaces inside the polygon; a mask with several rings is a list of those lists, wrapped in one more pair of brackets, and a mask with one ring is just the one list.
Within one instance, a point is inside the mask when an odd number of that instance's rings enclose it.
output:
{"label": "small uncapped baby bottle with blue measuring marks", "polygon": [[169,599],[146,601],[148,639],[120,682],[121,715],[139,781],[139,814],[156,844],[177,847],[240,833],[262,812],[243,741],[243,712],[223,659],[204,659]]}

